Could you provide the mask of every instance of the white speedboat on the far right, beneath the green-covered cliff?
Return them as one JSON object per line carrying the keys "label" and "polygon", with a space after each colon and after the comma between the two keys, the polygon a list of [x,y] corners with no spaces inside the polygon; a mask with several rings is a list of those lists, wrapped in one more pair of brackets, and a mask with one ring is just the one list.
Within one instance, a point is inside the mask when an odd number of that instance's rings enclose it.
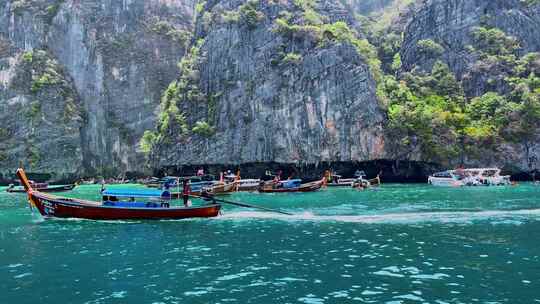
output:
{"label": "white speedboat on the far right, beneath the green-covered cliff", "polygon": [[428,178],[428,183],[442,187],[510,185],[510,176],[500,173],[498,168],[448,170],[433,174]]}

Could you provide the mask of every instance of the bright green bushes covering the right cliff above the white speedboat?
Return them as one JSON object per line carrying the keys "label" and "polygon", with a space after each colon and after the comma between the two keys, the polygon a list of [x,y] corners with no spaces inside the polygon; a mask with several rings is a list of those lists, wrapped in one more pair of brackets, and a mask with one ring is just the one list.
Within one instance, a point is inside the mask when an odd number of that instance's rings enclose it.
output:
{"label": "bright green bushes covering the right cliff above the white speedboat", "polygon": [[[472,35],[471,49],[479,54],[475,66],[503,66],[505,72],[493,77],[501,78],[497,88],[507,87],[506,92],[468,97],[464,83],[441,61],[430,73],[386,76],[387,133],[398,158],[420,154],[441,163],[464,161],[504,143],[521,145],[529,157],[540,134],[540,54],[518,57],[518,41],[496,28],[475,28]],[[436,43],[422,41],[440,51]],[[480,72],[489,78],[490,71]]]}

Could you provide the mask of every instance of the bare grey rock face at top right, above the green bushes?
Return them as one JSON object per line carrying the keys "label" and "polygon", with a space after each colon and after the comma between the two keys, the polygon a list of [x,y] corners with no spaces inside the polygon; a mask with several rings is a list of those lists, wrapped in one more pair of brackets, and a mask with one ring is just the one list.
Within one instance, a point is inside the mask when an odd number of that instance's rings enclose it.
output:
{"label": "bare grey rock face at top right, above the green bushes", "polygon": [[[521,0],[428,0],[412,15],[404,32],[401,58],[406,71],[431,70],[436,60],[443,60],[458,78],[477,67],[477,52],[471,50],[477,27],[498,28],[515,37],[522,53],[540,50],[540,5]],[[426,56],[418,44],[432,40],[443,47],[439,56]],[[488,88],[485,79],[473,79],[466,87],[473,95]]]}

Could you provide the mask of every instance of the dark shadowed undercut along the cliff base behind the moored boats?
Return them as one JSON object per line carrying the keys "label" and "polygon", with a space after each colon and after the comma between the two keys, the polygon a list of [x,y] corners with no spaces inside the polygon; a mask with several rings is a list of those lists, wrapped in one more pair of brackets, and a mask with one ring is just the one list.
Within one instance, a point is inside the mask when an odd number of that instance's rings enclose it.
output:
{"label": "dark shadowed undercut along the cliff base behind the moored boats", "polygon": [[[164,166],[154,169],[150,172],[126,172],[123,177],[110,176],[78,176],[72,174],[57,178],[50,173],[29,172],[31,179],[38,182],[51,182],[55,184],[69,184],[81,182],[82,180],[94,180],[96,183],[105,181],[107,184],[118,184],[126,182],[137,182],[147,179],[151,176],[162,177],[171,176],[191,176],[203,168],[205,173],[219,177],[220,172],[231,170],[235,173],[240,171],[243,178],[261,178],[267,170],[272,172],[282,171],[283,177],[301,178],[305,181],[314,181],[320,179],[325,170],[332,170],[334,173],[344,177],[352,177],[356,170],[363,170],[368,177],[375,177],[380,174],[383,183],[425,183],[427,177],[437,171],[443,171],[446,168],[440,164],[417,162],[417,161],[396,161],[396,160],[373,160],[359,162],[321,162],[318,164],[294,164],[277,162],[258,162],[245,164],[201,164],[201,165],[182,165],[182,166]],[[503,168],[502,174],[511,175],[514,181],[532,180],[531,172],[514,171]],[[536,170],[536,176],[540,176],[540,171]],[[0,175],[0,186],[7,186],[17,183],[15,174],[13,176]]]}

